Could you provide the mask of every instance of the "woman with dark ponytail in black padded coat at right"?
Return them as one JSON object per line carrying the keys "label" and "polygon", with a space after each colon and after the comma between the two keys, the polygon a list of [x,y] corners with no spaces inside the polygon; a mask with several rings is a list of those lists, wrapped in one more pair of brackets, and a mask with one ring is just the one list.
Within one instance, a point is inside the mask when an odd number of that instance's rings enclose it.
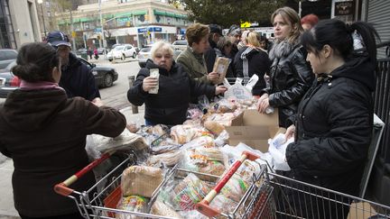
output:
{"label": "woman with dark ponytail in black padded coat at right", "polygon": [[[373,125],[375,34],[367,23],[348,26],[336,19],[320,21],[303,33],[302,45],[317,80],[302,98],[295,126],[287,132],[295,135],[286,150],[293,178],[358,195]],[[312,203],[314,208],[303,217],[347,218],[349,205],[323,199]]]}

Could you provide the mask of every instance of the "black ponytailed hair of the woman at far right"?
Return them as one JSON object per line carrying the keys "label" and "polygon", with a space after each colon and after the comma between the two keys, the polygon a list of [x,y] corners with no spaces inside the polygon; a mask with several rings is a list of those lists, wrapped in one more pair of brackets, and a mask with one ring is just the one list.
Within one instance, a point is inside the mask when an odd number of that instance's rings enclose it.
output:
{"label": "black ponytailed hair of the woman at far right", "polygon": [[343,59],[348,59],[354,52],[352,33],[360,34],[371,61],[376,62],[376,38],[379,36],[370,23],[356,22],[348,25],[338,19],[323,20],[310,32],[302,35],[302,46],[318,55],[323,46],[330,45]]}

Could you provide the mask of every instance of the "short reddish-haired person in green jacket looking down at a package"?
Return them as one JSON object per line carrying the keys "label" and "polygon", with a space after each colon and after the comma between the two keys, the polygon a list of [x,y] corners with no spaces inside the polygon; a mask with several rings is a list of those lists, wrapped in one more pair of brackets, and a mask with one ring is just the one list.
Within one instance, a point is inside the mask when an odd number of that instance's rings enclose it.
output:
{"label": "short reddish-haired person in green jacket looking down at a package", "polygon": [[190,25],[186,32],[189,47],[181,52],[177,62],[184,67],[190,78],[213,85],[218,83],[219,76],[217,72],[208,72],[203,55],[209,49],[209,32],[207,25]]}

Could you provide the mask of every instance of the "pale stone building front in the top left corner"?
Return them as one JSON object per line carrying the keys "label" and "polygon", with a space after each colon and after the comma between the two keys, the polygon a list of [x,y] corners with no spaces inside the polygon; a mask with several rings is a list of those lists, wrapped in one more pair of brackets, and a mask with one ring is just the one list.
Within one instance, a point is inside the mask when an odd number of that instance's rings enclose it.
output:
{"label": "pale stone building front in the top left corner", "polygon": [[0,0],[0,47],[18,49],[41,41],[35,0]]}

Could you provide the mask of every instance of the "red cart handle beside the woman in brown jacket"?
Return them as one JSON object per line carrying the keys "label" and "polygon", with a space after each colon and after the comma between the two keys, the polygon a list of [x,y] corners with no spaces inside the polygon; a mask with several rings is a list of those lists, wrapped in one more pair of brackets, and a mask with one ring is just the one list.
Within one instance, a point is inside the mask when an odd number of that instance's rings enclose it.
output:
{"label": "red cart handle beside the woman in brown jacket", "polygon": [[72,185],[74,182],[76,182],[79,178],[84,176],[86,173],[88,173],[91,169],[94,169],[96,166],[98,166],[100,163],[102,163],[104,160],[107,160],[115,151],[108,151],[104,153],[99,159],[92,161],[88,164],[87,167],[79,170],[79,172],[72,175],[70,178],[67,178],[65,181],[57,184],[54,186],[54,191],[61,196],[69,196],[74,190],[71,189],[69,186]]}

